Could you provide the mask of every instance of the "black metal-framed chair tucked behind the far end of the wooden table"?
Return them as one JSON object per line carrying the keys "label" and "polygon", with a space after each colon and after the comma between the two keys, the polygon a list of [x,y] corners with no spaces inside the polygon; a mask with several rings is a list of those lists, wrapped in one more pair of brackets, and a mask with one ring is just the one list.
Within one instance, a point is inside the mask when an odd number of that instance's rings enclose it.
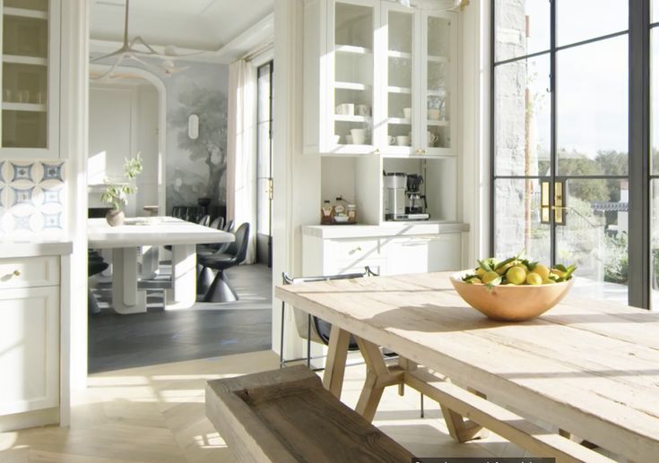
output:
{"label": "black metal-framed chair tucked behind the far end of the wooden table", "polygon": [[[318,277],[300,277],[291,278],[287,273],[282,273],[282,282],[284,285],[294,285],[296,283],[309,283],[313,281],[328,281],[331,279],[360,279],[364,277],[376,276],[369,267],[365,267],[363,273],[345,273],[343,275],[323,275]],[[284,360],[283,358],[283,341],[284,341],[284,314],[286,304],[282,301],[282,330],[280,332],[280,349],[279,349],[279,366],[285,366],[290,362],[299,362],[304,360],[304,357],[292,358]],[[330,332],[332,331],[332,324],[321,320],[318,317],[308,313],[306,315],[306,323],[303,322],[305,318],[304,313],[295,309],[295,324],[298,328],[299,337],[307,339],[307,366],[311,366],[311,341],[316,341],[329,345]],[[348,344],[348,350],[359,350],[357,341],[351,336]]]}

